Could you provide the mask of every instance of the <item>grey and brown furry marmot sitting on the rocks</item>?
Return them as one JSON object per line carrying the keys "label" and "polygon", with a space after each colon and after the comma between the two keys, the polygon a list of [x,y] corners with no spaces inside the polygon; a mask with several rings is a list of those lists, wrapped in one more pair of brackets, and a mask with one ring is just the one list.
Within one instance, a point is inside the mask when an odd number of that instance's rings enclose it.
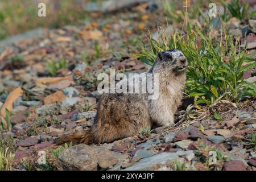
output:
{"label": "grey and brown furry marmot sitting on the rocks", "polygon": [[138,135],[142,129],[152,127],[153,124],[173,125],[174,113],[182,98],[186,69],[187,60],[182,52],[160,52],[154,66],[147,72],[159,74],[158,99],[148,100],[147,93],[104,94],[98,103],[92,128],[89,131],[63,135],[55,143],[109,143]]}

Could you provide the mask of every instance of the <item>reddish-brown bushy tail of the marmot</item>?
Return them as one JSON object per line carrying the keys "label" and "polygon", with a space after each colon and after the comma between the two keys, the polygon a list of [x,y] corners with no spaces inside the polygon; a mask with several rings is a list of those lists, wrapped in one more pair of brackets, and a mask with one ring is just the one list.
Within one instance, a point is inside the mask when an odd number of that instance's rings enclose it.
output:
{"label": "reddish-brown bushy tail of the marmot", "polygon": [[93,134],[92,132],[89,131],[80,131],[77,133],[71,133],[71,134],[64,134],[63,136],[56,138],[53,142],[55,143],[55,145],[59,146],[61,144],[64,143],[71,143],[72,145],[76,145],[76,144],[90,144],[93,143]]}

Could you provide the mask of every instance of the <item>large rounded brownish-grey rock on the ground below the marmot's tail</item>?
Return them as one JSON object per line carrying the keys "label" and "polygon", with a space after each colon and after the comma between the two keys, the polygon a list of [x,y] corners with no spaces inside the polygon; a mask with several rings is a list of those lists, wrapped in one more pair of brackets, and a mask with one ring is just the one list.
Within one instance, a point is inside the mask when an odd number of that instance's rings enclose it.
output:
{"label": "large rounded brownish-grey rock on the ground below the marmot's tail", "polygon": [[118,158],[105,147],[79,144],[67,148],[59,156],[60,170],[97,170],[97,167],[112,168],[119,162]]}

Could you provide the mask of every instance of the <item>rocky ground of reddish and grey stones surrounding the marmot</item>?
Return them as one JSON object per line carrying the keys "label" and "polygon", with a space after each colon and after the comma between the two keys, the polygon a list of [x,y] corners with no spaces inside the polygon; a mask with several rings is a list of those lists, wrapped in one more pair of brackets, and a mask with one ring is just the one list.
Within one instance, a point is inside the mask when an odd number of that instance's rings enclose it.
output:
{"label": "rocky ground of reddish and grey stones surrounding the marmot", "polygon": [[[184,99],[171,128],[145,129],[113,143],[53,147],[54,138],[92,126],[100,98],[98,73],[149,68],[134,53],[140,51],[139,41],[147,41],[144,28],[156,32],[166,18],[148,3],[115,16],[92,16],[95,21],[82,27],[47,30],[1,53],[0,108],[3,124],[10,122],[11,130],[0,135],[5,140],[1,144],[9,144],[15,154],[13,169],[256,170],[255,98],[202,107]],[[247,28],[255,20],[250,24]],[[252,51],[255,28],[249,40]],[[244,77],[255,80],[255,70]],[[214,115],[216,110],[220,115]],[[40,151],[46,164],[38,164]]]}

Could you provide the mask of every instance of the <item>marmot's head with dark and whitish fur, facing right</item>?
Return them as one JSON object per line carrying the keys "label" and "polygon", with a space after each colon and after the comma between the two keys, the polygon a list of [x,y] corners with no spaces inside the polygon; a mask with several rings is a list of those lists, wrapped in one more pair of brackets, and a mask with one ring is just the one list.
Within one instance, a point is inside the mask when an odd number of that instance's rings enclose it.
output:
{"label": "marmot's head with dark and whitish fur, facing right", "polygon": [[187,59],[177,49],[159,52],[155,64],[159,67],[158,71],[173,72],[176,76],[184,74],[188,67]]}

